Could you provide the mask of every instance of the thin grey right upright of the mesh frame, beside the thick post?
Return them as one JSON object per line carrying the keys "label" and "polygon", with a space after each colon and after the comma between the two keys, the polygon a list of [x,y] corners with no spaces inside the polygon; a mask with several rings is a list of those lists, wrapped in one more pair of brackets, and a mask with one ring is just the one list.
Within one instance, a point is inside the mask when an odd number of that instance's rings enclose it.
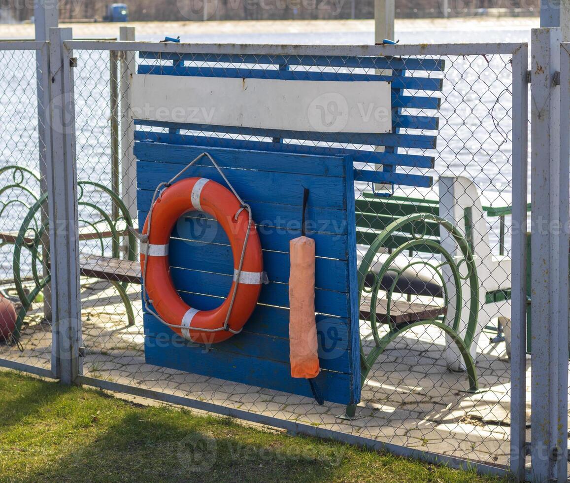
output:
{"label": "thin grey right upright of the mesh frame, beside the thick post", "polygon": [[526,459],[528,47],[512,56],[511,472],[524,480]]}

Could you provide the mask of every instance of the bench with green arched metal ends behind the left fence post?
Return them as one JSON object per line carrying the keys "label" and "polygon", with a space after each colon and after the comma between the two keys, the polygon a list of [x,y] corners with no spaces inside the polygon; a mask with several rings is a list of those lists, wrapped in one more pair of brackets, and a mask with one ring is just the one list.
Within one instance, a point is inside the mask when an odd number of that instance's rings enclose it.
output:
{"label": "bench with green arched metal ends behind the left fence post", "polygon": [[[33,194],[31,189],[25,189]],[[80,254],[80,272],[85,277],[108,281],[115,287],[127,311],[128,325],[132,326],[135,324],[135,315],[127,287],[129,283],[139,282],[139,279],[135,278],[137,271],[133,266],[137,264],[136,237],[128,229],[133,226],[129,211],[116,193],[100,183],[79,181],[78,191],[79,240],[80,243],[92,245],[87,250],[89,255]],[[36,201],[29,206],[20,229],[0,233],[2,243],[14,245],[13,278],[22,305],[13,334],[14,342],[19,339],[23,320],[32,303],[51,278],[50,261],[44,259],[49,253],[49,247],[45,246],[48,223],[42,217],[42,210],[47,212],[47,194],[34,198]],[[110,209],[106,209],[109,207],[104,206],[103,201],[110,202]],[[111,245],[110,248],[108,245]],[[123,258],[121,246],[126,247]],[[100,255],[95,255],[97,251]],[[29,257],[29,263],[25,263],[25,257]],[[25,265],[29,267],[31,275],[25,274]]]}

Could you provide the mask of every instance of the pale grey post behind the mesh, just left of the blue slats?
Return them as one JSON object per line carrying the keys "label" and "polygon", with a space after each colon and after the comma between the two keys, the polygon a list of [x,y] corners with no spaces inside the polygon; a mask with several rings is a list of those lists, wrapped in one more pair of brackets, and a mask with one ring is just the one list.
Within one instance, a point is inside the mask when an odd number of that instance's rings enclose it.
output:
{"label": "pale grey post behind the mesh, just left of the blue slats", "polygon": [[[120,27],[120,40],[135,40],[135,27]],[[131,119],[131,74],[135,73],[136,62],[134,52],[121,52],[120,71],[120,106],[121,106],[121,196],[133,220],[137,212],[137,165],[133,154],[135,133]]]}

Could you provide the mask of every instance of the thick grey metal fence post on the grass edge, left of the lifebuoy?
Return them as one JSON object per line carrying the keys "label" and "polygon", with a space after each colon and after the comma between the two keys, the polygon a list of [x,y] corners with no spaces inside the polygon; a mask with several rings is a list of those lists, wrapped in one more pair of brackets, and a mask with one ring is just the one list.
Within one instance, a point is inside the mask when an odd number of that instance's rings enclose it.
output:
{"label": "thick grey metal fence post on the grass edge, left of the lifebuoy", "polygon": [[72,384],[80,374],[81,338],[75,107],[71,52],[64,47],[64,41],[71,39],[71,29],[50,29],[52,162],[47,188],[54,337],[64,384]]}

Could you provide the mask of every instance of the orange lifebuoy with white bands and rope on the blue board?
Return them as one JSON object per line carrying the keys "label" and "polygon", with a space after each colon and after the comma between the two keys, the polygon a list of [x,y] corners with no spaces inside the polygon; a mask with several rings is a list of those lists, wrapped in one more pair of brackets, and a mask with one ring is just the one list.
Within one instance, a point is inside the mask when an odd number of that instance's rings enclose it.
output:
{"label": "orange lifebuoy with white bands and rope on the blue board", "polygon": [[[154,310],[185,339],[197,343],[217,343],[241,331],[254,311],[263,283],[263,258],[259,236],[250,214],[229,189],[206,178],[186,178],[162,192],[149,213],[143,234],[148,236],[148,247],[141,247],[141,267],[145,271],[145,253],[148,250],[145,290]],[[184,213],[198,210],[214,216],[230,240],[234,257],[234,278],[230,295],[217,309],[197,310],[188,306],[176,292],[168,259],[170,234],[178,218]],[[242,270],[235,293],[230,317],[232,294],[235,289],[243,245],[247,238]],[[207,270],[207,267],[205,267]],[[197,291],[202,290],[197,287]]]}

